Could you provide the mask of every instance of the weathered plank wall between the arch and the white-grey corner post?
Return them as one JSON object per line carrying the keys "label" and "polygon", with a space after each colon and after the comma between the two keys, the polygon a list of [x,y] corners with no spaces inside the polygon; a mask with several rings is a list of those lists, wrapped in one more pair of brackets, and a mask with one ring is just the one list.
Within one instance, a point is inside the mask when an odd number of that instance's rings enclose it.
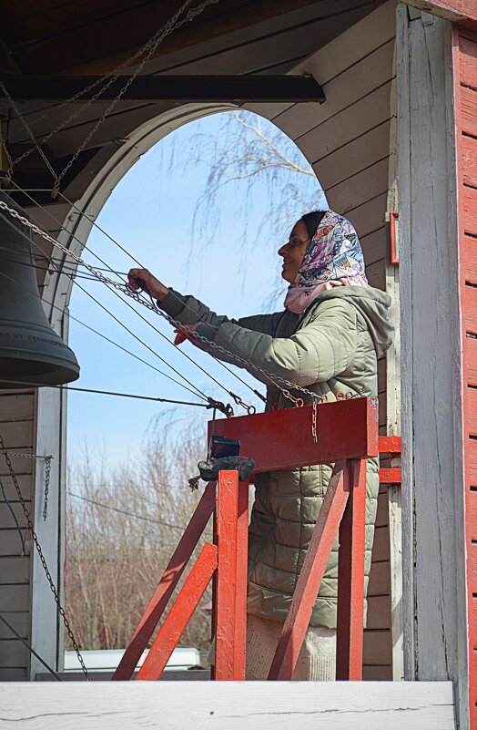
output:
{"label": "weathered plank wall between the arch and the white-grey corner post", "polygon": [[[370,15],[307,58],[292,73],[309,73],[323,104],[248,105],[286,132],[312,163],[330,208],[355,226],[371,286],[386,289],[386,211],[394,89],[395,5]],[[283,108],[286,106],[286,108]],[[380,429],[388,433],[387,369],[379,367]],[[370,575],[363,677],[391,679],[391,571],[388,490],[381,489]]]}

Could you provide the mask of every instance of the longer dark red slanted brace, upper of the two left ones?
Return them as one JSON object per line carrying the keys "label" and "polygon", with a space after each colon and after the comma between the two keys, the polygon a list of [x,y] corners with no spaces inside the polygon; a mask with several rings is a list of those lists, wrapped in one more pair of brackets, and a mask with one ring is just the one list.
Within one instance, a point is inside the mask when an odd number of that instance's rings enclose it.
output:
{"label": "longer dark red slanted brace, upper of the two left ones", "polygon": [[210,483],[204,490],[198,506],[194,514],[190,518],[188,527],[179,540],[178,547],[174,555],[169,560],[166,570],[164,571],[157,589],[154,592],[146,612],[137,625],[133,638],[127,646],[126,652],[113,674],[113,680],[131,679],[134,670],[137,667],[141,654],[147,647],[147,642],[151,638],[157,623],[167,606],[167,601],[171,597],[174,589],[178,584],[178,580],[182,575],[188,560],[195,550],[198,540],[205,530],[208,519],[215,507],[215,483]]}

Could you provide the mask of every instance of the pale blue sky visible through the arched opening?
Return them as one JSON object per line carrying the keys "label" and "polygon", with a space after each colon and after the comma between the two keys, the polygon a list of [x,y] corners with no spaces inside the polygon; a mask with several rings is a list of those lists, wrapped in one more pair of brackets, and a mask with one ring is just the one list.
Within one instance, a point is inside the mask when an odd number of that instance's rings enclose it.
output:
{"label": "pale blue sky visible through the arched opening", "polygon": [[[216,115],[192,122],[150,149],[119,182],[97,223],[163,283],[181,293],[193,293],[220,314],[239,317],[269,311],[267,302],[270,299],[275,299],[275,309],[279,309],[285,294],[286,283],[279,276],[277,255],[286,235],[285,229],[281,226],[281,230],[276,230],[270,222],[261,228],[260,224],[270,212],[270,200],[273,198],[270,184],[276,185],[276,190],[279,190],[280,186],[286,184],[286,175],[290,173],[284,173],[272,183],[265,179],[256,180],[247,210],[248,241],[245,242],[242,236],[248,186],[245,180],[229,182],[222,188],[215,202],[215,205],[220,206],[219,224],[214,210],[210,210],[208,230],[192,231],[194,211],[204,191],[209,168],[207,159],[192,163],[191,147],[194,141],[197,143],[198,132],[209,135],[223,133],[221,117]],[[227,142],[227,139],[223,141]],[[284,135],[282,144],[285,149],[287,146],[294,147]],[[174,149],[172,171],[167,164],[171,149]],[[304,192],[312,197],[316,189],[318,194],[318,182],[307,176],[302,177]],[[257,231],[260,231],[258,237]],[[96,228],[91,232],[87,246],[118,272],[127,272],[136,265]],[[87,262],[97,263],[92,253],[85,251],[83,255]],[[78,283],[137,334],[153,352],[127,334],[77,286],[73,289],[70,304],[71,314],[76,318],[180,380],[167,365],[159,361],[157,355],[160,355],[207,396],[230,401],[230,397],[208,375],[199,371],[179,352],[183,350],[228,390],[237,393],[248,403],[259,406],[257,397],[210,355],[201,353],[188,343],[180,345],[180,348],[168,344],[127,308],[125,302],[121,301],[131,303],[127,297],[120,295],[117,298],[99,282],[78,279]],[[133,307],[165,334],[169,341],[174,339],[171,327],[157,314],[135,303]],[[80,379],[72,385],[144,396],[198,400],[181,386],[88,332],[75,321],[70,324],[69,344],[81,365]],[[250,385],[259,385],[245,371],[237,372]],[[259,385],[259,390],[263,392],[263,386]],[[167,410],[172,420],[186,427],[191,420],[198,418],[205,424],[204,416],[209,415],[209,411],[204,408],[179,408],[171,412],[171,407],[128,398],[70,392],[69,457],[73,461],[82,458],[87,445],[92,458],[101,456],[114,464],[127,456],[137,456],[144,445],[151,419],[159,413]],[[242,415],[243,411],[236,408],[236,413]]]}

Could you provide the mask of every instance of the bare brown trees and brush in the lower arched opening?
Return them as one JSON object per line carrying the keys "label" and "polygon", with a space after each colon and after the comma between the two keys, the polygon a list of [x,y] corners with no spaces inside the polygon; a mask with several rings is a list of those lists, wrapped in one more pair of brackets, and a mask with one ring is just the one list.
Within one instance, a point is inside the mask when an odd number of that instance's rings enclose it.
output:
{"label": "bare brown trees and brush in the lower arched opening", "polygon": [[[163,423],[139,458],[94,469],[86,453],[70,468],[66,606],[81,648],[127,646],[200,499],[204,483],[191,492],[188,478],[198,473],[205,444],[205,429],[194,422],[174,431]],[[194,556],[210,537],[208,526]],[[199,606],[210,597],[209,588]],[[209,638],[209,612],[198,608],[180,644],[205,650]]]}

